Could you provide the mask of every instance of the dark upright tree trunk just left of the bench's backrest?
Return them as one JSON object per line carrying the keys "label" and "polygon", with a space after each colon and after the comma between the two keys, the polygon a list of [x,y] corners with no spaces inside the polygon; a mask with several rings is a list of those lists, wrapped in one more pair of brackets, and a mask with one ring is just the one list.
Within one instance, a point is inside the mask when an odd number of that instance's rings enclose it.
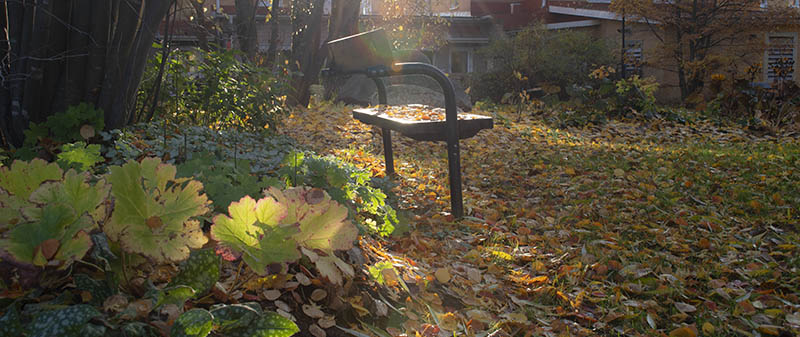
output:
{"label": "dark upright tree trunk just left of the bench's backrest", "polygon": [[295,0],[292,6],[292,63],[294,70],[287,103],[307,106],[311,85],[317,83],[324,56],[320,55],[324,0]]}

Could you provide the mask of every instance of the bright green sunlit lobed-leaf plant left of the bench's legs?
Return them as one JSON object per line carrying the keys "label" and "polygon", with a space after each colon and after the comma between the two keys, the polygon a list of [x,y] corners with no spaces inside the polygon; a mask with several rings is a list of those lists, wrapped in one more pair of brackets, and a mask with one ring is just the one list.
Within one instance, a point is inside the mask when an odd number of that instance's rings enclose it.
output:
{"label": "bright green sunlit lobed-leaf plant left of the bench's legs", "polygon": [[324,189],[333,200],[349,206],[354,218],[363,220],[358,222],[373,233],[388,236],[398,223],[386,193],[373,186],[369,173],[336,157],[292,152],[284,157],[279,174],[289,185]]}

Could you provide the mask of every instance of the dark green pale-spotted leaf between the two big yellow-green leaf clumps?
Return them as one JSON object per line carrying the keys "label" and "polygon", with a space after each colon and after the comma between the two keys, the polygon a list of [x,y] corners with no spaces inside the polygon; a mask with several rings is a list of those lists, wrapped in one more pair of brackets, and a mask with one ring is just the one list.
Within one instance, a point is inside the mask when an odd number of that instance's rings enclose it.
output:
{"label": "dark green pale-spotted leaf between the two big yellow-green leaf clumps", "polygon": [[211,248],[195,250],[186,261],[181,262],[178,275],[171,285],[192,287],[195,296],[211,290],[219,280],[220,258]]}

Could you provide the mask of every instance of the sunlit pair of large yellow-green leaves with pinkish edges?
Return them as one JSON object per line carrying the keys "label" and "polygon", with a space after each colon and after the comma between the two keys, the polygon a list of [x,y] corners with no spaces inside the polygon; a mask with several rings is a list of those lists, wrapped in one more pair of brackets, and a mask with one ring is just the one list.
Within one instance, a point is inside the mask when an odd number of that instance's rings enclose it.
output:
{"label": "sunlit pair of large yellow-green leaves with pinkish edges", "polygon": [[317,188],[270,188],[261,200],[245,196],[232,203],[228,213],[214,218],[212,238],[227,250],[224,256],[241,256],[260,275],[272,263],[298,260],[301,248],[332,256],[352,247],[358,235],[347,208]]}

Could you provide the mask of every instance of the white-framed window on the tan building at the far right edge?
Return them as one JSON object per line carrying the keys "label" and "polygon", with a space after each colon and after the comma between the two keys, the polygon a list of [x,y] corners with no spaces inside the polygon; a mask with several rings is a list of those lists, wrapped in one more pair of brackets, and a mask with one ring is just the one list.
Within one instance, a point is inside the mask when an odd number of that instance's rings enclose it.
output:
{"label": "white-framed window on the tan building at the far right edge", "polygon": [[764,55],[764,74],[767,82],[794,80],[794,60],[797,48],[797,33],[775,33],[767,35],[767,50]]}

